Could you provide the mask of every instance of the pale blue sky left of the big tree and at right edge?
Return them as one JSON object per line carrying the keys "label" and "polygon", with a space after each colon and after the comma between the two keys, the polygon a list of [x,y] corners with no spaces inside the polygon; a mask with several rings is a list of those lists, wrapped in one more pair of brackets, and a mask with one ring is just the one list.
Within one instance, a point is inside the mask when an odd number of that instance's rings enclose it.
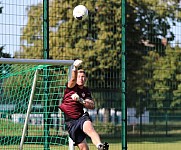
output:
{"label": "pale blue sky left of the big tree and at right edge", "polygon": [[[5,45],[4,52],[13,56],[20,50],[21,28],[27,23],[26,7],[43,3],[43,0],[0,0],[3,12],[0,14],[0,46]],[[181,23],[171,29],[175,35],[173,44],[179,41],[181,45]]]}

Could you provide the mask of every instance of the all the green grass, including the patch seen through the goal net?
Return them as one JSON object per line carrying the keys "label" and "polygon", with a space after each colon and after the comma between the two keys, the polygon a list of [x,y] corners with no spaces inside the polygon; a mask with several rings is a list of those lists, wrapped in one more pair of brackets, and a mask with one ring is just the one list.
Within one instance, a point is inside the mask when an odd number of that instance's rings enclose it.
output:
{"label": "all the green grass, including the patch seen through the goal net", "polygon": [[[0,119],[0,136],[21,136],[22,124],[9,122]],[[42,127],[30,126],[30,135],[43,136]],[[51,133],[56,131],[51,129]],[[121,134],[121,133],[120,133]],[[128,150],[179,150],[181,149],[181,136],[147,136],[147,137],[128,137]],[[122,150],[121,138],[103,138],[102,141],[107,141],[110,144],[110,150]],[[90,150],[97,150],[88,139]],[[0,141],[0,150],[19,150],[19,145],[3,144]],[[24,144],[23,150],[43,150],[44,145],[40,144]],[[50,145],[51,150],[68,150],[68,146]],[[75,148],[78,150],[78,148]]]}

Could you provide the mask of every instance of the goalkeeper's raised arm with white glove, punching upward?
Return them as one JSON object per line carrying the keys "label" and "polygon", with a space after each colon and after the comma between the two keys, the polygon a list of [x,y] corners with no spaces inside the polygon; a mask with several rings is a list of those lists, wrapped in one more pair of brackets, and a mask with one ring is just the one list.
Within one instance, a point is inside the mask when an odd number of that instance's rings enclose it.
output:
{"label": "goalkeeper's raised arm with white glove, punching upward", "polygon": [[81,65],[82,60],[75,60],[73,63],[73,69],[72,69],[72,76],[71,79],[68,82],[68,87],[73,88],[77,82],[77,70],[78,67]]}

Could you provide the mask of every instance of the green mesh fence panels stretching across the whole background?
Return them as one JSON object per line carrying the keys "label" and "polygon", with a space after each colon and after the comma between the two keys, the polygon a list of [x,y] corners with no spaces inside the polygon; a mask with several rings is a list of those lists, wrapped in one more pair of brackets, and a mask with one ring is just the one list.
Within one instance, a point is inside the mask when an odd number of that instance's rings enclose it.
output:
{"label": "green mesh fence panels stretching across the whole background", "polygon": [[[45,1],[49,2],[47,20],[43,20]],[[78,4],[85,5],[89,10],[84,21],[73,18],[72,10]],[[90,111],[90,115],[103,141],[110,143],[110,150],[121,149],[123,121],[127,123],[124,129],[128,135],[125,137],[125,149],[180,149],[180,8],[180,1],[177,0],[1,0],[0,57],[43,59],[43,42],[46,40],[43,39],[43,21],[48,21],[46,31],[49,31],[49,42],[46,42],[49,44],[49,57],[53,60],[78,57],[84,61],[82,67],[88,75],[87,85],[96,103],[96,109]],[[121,14],[124,9],[126,16]],[[124,21],[126,24],[122,24]],[[125,36],[125,41],[122,41]],[[124,46],[125,53],[122,51]],[[121,97],[121,83],[124,82],[121,58],[124,54],[126,120],[122,120]],[[20,96],[23,97],[22,94]],[[40,108],[43,104],[36,106],[32,105],[32,108],[38,111],[45,109]],[[1,110],[4,108],[11,107],[8,104],[1,106]],[[8,118],[7,114],[4,111],[2,118]],[[22,129],[23,125],[21,134]],[[44,135],[38,126],[34,134],[40,134],[39,131]],[[14,134],[1,130],[0,135],[5,137],[1,143],[17,139]],[[21,134],[17,134],[19,142]],[[5,139],[6,142],[2,142]],[[33,138],[25,138],[24,146],[27,149],[44,149],[44,145],[40,145],[43,140],[47,139],[39,138],[36,145]],[[89,139],[88,143],[94,150],[95,146],[90,144]],[[18,147],[18,144],[14,145]],[[14,145],[6,146],[14,149]],[[2,146],[5,148],[1,144],[0,149],[3,149]],[[63,148],[52,147],[52,144],[50,147]]]}

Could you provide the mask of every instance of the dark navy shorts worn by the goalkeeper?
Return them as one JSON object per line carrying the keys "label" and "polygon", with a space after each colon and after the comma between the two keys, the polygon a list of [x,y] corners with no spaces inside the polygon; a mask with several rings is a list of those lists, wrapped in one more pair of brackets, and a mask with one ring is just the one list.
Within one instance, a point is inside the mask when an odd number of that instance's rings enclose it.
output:
{"label": "dark navy shorts worn by the goalkeeper", "polygon": [[86,138],[86,134],[83,131],[83,124],[87,120],[91,121],[91,118],[88,112],[85,112],[82,117],[77,120],[66,122],[69,136],[74,141],[74,145],[81,143]]}

